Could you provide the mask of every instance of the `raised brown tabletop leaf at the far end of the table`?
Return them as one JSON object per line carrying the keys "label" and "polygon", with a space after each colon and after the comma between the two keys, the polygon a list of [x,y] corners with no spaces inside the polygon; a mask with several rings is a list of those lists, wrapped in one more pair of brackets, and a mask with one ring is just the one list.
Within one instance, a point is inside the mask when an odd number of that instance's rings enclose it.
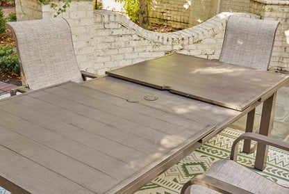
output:
{"label": "raised brown tabletop leaf at the far end of the table", "polygon": [[106,72],[161,90],[244,111],[256,99],[280,88],[288,76],[172,54]]}

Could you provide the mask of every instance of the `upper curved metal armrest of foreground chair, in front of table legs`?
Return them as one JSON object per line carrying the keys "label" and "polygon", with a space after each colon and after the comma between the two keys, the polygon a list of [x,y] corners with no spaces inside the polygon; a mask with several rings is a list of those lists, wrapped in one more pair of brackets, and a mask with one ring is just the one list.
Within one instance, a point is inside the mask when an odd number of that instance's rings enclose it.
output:
{"label": "upper curved metal armrest of foreground chair, in front of table legs", "polygon": [[270,138],[267,136],[263,136],[260,134],[254,134],[247,132],[245,134],[240,135],[236,140],[234,141],[231,149],[231,160],[237,161],[238,156],[238,145],[240,140],[255,140],[257,143],[262,143],[265,145],[271,145],[273,147],[277,147],[280,149],[284,149],[286,151],[289,151],[289,143],[286,143],[281,140],[276,140],[274,138]]}

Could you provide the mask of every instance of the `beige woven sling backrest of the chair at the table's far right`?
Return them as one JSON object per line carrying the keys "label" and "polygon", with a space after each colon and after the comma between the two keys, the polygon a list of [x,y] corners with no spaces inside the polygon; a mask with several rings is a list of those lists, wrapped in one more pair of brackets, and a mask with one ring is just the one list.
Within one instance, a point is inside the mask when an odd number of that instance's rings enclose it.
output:
{"label": "beige woven sling backrest of the chair at the table's far right", "polygon": [[220,61],[267,70],[278,25],[277,21],[230,16]]}

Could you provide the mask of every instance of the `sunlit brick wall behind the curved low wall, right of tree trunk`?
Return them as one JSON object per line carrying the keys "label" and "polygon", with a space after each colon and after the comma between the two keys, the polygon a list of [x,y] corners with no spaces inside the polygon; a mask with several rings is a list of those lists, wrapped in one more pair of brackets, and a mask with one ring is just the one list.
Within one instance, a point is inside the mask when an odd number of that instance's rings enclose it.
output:
{"label": "sunlit brick wall behind the curved low wall, right of tree trunk", "polygon": [[[150,3],[150,21],[186,29],[217,13],[248,12],[250,0],[159,0]],[[111,9],[110,9],[111,10]]]}

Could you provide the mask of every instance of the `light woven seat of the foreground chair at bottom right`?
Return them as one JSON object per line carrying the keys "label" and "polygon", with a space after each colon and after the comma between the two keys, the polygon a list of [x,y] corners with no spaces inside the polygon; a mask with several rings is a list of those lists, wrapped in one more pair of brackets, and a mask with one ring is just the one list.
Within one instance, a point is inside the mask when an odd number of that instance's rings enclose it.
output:
{"label": "light woven seat of the foreground chair at bottom right", "polygon": [[[289,193],[289,188],[276,184],[274,181],[229,159],[216,161],[204,172],[204,175],[238,186],[251,193]],[[190,193],[218,193],[199,185],[190,186],[188,190]]]}

